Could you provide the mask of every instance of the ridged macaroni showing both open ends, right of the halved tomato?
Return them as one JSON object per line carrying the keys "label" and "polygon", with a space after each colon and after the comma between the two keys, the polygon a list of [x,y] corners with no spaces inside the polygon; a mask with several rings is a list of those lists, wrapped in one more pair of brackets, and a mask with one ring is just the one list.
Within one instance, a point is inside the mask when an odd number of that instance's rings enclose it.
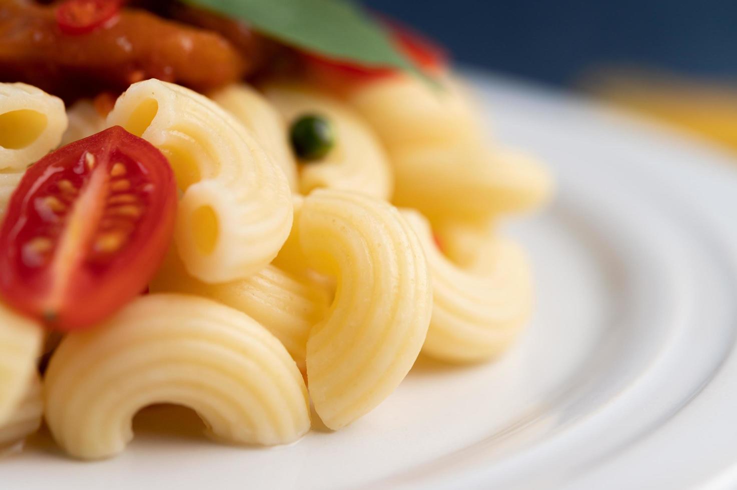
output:
{"label": "ridged macaroni showing both open ends, right of the halved tomato", "polygon": [[130,85],[108,115],[169,159],[184,194],[175,242],[201,281],[242,279],[276,256],[292,225],[287,178],[212,100],[159,80]]}

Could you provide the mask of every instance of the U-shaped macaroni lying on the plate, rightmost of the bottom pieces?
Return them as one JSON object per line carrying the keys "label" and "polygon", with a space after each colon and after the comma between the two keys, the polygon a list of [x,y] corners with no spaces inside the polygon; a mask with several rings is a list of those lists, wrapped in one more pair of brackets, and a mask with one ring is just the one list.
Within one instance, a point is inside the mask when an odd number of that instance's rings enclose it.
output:
{"label": "U-shaped macaroni lying on the plate, rightmost of the bottom pieces", "polygon": [[433,317],[422,352],[456,363],[500,354],[532,309],[531,268],[523,251],[487,234],[475,267],[462,269],[438,250],[425,217],[403,212],[422,242],[433,278]]}

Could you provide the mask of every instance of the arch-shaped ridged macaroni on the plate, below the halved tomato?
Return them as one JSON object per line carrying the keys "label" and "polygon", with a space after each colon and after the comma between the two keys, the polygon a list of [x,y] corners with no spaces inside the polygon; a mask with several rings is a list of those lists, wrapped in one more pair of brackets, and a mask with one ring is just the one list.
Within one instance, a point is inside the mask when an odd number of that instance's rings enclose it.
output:
{"label": "arch-shaped ridged macaroni on the plate, below the halved tomato", "polygon": [[279,340],[206,298],[136,298],[97,329],[64,337],[44,385],[46,422],[69,455],[116,455],[147,405],[195,410],[209,435],[286,444],[310,429],[307,389]]}

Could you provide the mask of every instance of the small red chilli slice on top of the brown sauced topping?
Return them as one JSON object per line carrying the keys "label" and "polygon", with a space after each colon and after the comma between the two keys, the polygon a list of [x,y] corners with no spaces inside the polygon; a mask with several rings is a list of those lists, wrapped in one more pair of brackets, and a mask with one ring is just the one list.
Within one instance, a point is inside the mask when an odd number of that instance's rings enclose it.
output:
{"label": "small red chilli slice on top of the brown sauced topping", "polygon": [[122,0],[66,0],[56,7],[56,23],[64,34],[80,35],[115,24]]}

